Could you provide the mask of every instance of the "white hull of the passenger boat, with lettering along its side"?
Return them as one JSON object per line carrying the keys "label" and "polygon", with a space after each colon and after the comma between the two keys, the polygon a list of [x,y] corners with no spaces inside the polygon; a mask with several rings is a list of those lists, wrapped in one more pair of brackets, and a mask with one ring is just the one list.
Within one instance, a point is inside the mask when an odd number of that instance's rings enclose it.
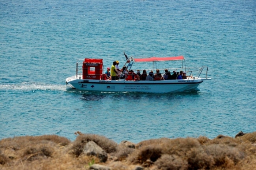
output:
{"label": "white hull of the passenger boat, with lettering along its side", "polygon": [[203,80],[201,78],[161,81],[84,80],[72,76],[67,78],[66,82],[79,91],[169,93],[197,89]]}

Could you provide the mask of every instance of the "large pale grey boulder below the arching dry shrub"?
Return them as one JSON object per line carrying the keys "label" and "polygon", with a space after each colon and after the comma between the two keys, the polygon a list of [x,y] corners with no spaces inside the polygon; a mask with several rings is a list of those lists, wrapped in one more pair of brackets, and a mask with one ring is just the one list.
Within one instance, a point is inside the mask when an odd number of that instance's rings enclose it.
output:
{"label": "large pale grey boulder below the arching dry shrub", "polygon": [[101,162],[106,162],[108,159],[108,154],[93,141],[86,143],[83,154],[96,156]]}

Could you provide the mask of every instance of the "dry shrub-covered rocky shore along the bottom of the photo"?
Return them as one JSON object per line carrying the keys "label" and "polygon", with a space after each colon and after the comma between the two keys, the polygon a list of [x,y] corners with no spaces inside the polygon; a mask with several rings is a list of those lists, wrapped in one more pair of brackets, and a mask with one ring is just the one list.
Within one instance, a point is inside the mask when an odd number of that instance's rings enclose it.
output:
{"label": "dry shrub-covered rocky shore along the bottom of the photo", "polygon": [[95,134],[24,136],[0,141],[1,170],[252,170],[256,132],[214,139],[116,142]]}

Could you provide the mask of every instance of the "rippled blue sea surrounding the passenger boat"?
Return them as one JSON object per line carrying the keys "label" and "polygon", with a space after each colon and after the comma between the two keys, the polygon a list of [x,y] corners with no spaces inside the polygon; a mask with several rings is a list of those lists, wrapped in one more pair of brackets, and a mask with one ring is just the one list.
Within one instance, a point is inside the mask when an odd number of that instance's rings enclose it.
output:
{"label": "rippled blue sea surrounding the passenger boat", "polygon": [[[66,90],[76,59],[179,56],[200,91]],[[255,0],[0,1],[0,139],[75,132],[116,142],[256,130]]]}

